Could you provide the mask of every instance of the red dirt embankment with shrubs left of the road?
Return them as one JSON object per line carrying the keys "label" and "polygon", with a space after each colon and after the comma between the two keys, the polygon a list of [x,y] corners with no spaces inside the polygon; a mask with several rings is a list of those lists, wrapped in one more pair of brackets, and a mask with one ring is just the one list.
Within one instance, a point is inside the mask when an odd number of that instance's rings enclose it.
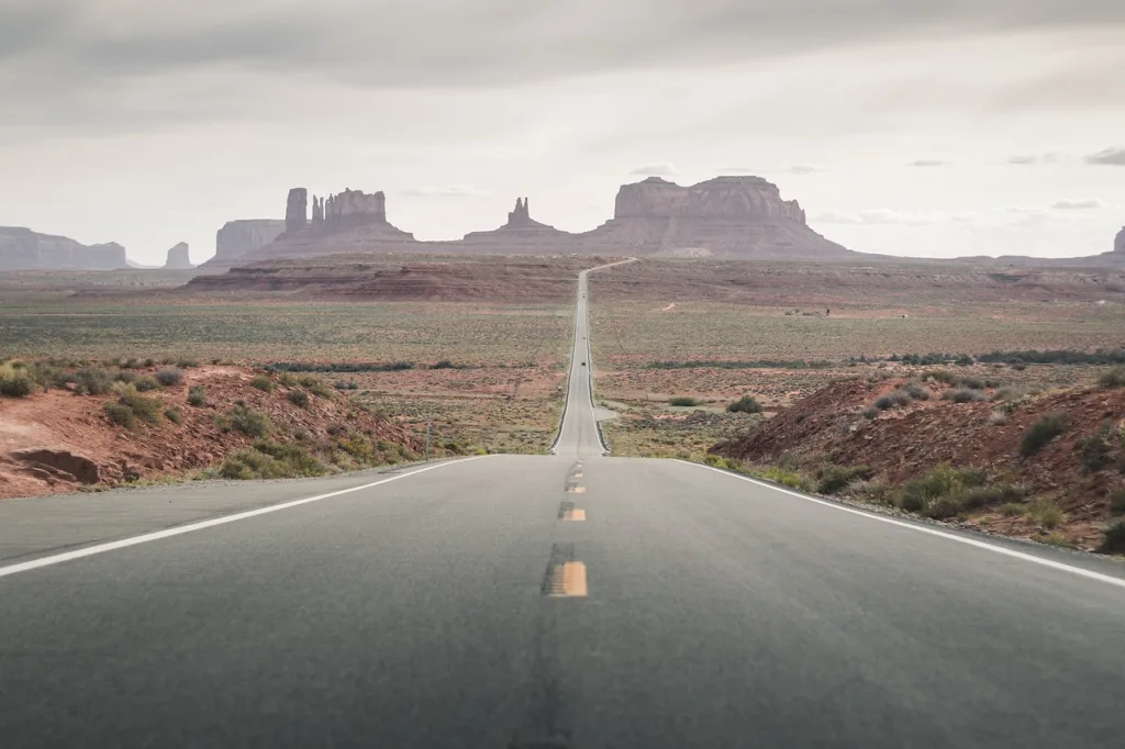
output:
{"label": "red dirt embankment with shrubs left of the road", "polygon": [[[138,374],[145,372],[138,371]],[[253,372],[237,367],[184,370],[184,379],[166,389],[144,394],[160,397],[165,409],[178,409],[180,423],[163,418],[141,423],[133,431],[109,421],[104,405],[114,395],[80,396],[70,390],[35,392],[26,398],[0,397],[0,499],[71,491],[82,485],[155,478],[220,463],[253,440],[224,431],[216,423],[235,401],[266,414],[278,434],[302,432],[323,439],[330,427],[344,427],[372,443],[421,450],[404,427],[349,404],[342,396],[309,396],[306,407],[289,401],[289,388],[266,392],[250,386]],[[187,403],[188,388],[201,385],[206,404]],[[295,388],[294,388],[295,389]]]}

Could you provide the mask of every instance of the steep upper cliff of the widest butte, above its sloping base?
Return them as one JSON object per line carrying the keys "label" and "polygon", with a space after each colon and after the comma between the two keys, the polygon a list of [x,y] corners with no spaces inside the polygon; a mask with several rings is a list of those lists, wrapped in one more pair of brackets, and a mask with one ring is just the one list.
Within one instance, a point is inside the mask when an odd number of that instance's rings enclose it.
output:
{"label": "steep upper cliff of the widest butte, above its sloping base", "polygon": [[760,177],[717,177],[691,187],[650,177],[621,187],[613,217],[806,223],[801,206],[782,200],[777,186]]}

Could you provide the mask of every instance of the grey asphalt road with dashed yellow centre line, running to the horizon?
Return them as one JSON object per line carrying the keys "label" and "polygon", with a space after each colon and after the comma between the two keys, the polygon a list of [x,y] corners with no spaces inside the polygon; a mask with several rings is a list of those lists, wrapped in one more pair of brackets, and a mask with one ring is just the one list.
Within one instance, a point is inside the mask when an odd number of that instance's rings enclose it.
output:
{"label": "grey asphalt road with dashed yellow centre line, running to the horizon", "polygon": [[578,296],[554,455],[0,503],[0,747],[1125,742],[1115,562],[603,457]]}

